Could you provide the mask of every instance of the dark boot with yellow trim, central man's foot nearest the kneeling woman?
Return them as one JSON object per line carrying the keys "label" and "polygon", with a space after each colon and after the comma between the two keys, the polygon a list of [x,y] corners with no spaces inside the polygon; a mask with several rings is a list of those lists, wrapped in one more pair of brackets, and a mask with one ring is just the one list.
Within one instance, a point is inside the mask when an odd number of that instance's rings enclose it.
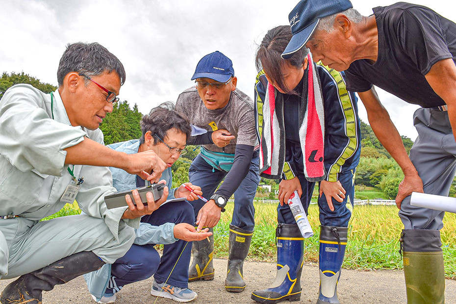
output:
{"label": "dark boot with yellow trim, central man's foot nearest the kneeling woman", "polygon": [[[213,232],[209,228],[209,232]],[[212,257],[214,255],[214,234],[209,236],[209,240],[193,241],[192,245],[193,261],[188,269],[188,281],[193,282],[199,279],[213,280],[214,265]]]}

